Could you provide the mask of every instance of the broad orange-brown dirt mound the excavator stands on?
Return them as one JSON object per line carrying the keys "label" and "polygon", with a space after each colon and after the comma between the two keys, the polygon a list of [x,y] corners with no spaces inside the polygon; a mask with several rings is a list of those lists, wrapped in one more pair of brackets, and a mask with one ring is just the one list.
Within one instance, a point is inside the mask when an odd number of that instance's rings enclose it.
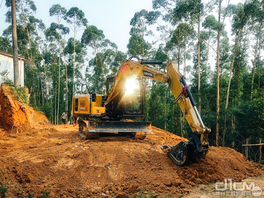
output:
{"label": "broad orange-brown dirt mound the excavator stands on", "polygon": [[[31,129],[27,136],[0,139],[0,181],[40,197],[50,184],[55,197],[134,196],[141,188],[155,197],[185,196],[197,183],[260,176],[257,164],[230,148],[212,147],[205,159],[177,166],[159,146],[187,141],[152,127],[145,140],[105,135],[86,140],[69,125]],[[12,184],[12,181],[17,184]]]}

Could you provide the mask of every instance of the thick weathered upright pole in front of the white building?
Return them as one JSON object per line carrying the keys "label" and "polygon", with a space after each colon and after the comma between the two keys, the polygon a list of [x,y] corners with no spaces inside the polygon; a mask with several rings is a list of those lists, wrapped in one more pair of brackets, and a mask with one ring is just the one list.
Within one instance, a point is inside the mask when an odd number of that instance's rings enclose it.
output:
{"label": "thick weathered upright pole in front of the white building", "polygon": [[13,66],[14,66],[14,83],[19,86],[19,67],[18,67],[18,49],[17,49],[17,36],[16,36],[16,2],[11,0],[12,12],[12,43],[13,43]]}

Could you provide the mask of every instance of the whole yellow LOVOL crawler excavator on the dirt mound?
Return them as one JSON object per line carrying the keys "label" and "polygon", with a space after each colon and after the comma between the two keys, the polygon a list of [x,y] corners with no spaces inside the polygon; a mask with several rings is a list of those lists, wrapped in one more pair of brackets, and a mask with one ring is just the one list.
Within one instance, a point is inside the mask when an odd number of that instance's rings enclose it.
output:
{"label": "whole yellow LOVOL crawler excavator on the dirt mound", "polygon": [[[138,61],[133,61],[132,58],[137,58]],[[147,66],[151,64],[166,64],[167,73]],[[72,110],[73,117],[85,119],[79,121],[79,134],[86,139],[98,139],[100,133],[129,134],[131,138],[144,139],[147,132],[151,132],[151,122],[124,120],[143,118],[145,90],[141,84],[142,78],[168,83],[166,96],[179,104],[193,131],[188,142],[160,146],[162,151],[178,165],[205,158],[209,150],[207,138],[211,130],[204,126],[184,76],[177,65],[170,61],[144,61],[136,56],[130,57],[120,66],[116,76],[107,78],[105,96],[92,93],[83,84],[82,94],[73,98]],[[170,92],[174,94],[174,99]],[[95,118],[99,121],[92,120]]]}

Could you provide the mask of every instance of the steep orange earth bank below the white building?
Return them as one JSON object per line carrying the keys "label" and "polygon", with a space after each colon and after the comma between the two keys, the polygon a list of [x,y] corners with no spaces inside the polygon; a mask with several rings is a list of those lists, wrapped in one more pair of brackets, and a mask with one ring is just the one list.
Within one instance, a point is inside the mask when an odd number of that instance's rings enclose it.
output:
{"label": "steep orange earth bank below the white building", "polygon": [[45,124],[43,120],[49,122],[42,112],[17,101],[10,87],[4,84],[0,87],[0,107],[0,120],[7,130],[11,130],[12,126],[17,124],[19,132],[24,132],[33,126]]}

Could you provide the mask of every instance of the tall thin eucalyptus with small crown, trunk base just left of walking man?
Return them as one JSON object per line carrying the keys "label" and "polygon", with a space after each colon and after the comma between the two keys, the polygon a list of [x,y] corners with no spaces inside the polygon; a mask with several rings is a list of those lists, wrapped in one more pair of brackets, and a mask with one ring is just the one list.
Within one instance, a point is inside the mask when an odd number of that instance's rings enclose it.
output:
{"label": "tall thin eucalyptus with small crown, trunk base just left of walking man", "polygon": [[[62,19],[65,19],[66,17],[66,13],[67,13],[67,10],[65,7],[61,7],[60,4],[54,4],[52,5],[52,7],[49,9],[49,16],[55,16],[55,19],[57,20],[58,22],[58,40],[59,40],[59,61],[58,61],[58,65],[59,65],[59,86],[58,86],[58,112],[57,112],[57,124],[58,124],[58,121],[59,121],[59,99],[60,99],[60,75],[61,75],[61,65],[60,65],[60,62],[61,62],[61,37],[60,37],[60,22]],[[55,23],[52,23],[51,26],[54,25],[55,26]],[[55,28],[55,27],[54,27]],[[56,28],[55,28],[56,29]]]}

